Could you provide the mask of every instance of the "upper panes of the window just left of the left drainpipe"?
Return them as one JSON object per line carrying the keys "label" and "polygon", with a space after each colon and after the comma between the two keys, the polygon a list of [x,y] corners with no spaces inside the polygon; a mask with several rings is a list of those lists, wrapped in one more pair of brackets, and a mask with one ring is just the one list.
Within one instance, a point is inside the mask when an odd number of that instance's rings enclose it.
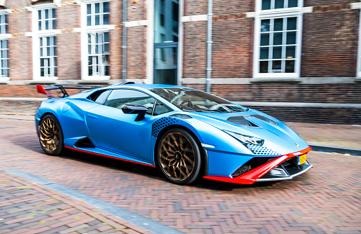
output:
{"label": "upper panes of the window just left of the left drainpipe", "polygon": [[109,3],[87,4],[87,26],[109,24]]}

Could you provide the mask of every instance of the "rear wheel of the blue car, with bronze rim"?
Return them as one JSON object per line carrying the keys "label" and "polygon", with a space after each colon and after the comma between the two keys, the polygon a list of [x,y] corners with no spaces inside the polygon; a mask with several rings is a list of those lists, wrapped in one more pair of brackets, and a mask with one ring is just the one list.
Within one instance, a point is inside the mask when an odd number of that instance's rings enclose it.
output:
{"label": "rear wheel of the blue car, with bronze rim", "polygon": [[47,114],[41,118],[38,135],[41,149],[48,155],[57,156],[64,149],[62,127],[52,114]]}

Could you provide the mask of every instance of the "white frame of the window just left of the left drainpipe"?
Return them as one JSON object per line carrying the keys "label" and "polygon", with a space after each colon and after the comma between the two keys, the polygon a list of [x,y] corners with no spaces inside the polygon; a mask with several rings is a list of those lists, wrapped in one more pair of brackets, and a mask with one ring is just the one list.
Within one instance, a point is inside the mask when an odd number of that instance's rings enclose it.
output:
{"label": "white frame of the window just left of the left drainpipe", "polygon": [[[81,3],[81,13],[80,13],[80,24],[81,24],[81,78],[84,81],[107,81],[111,78],[111,76],[101,76],[101,75],[93,75],[89,76],[88,74],[88,34],[97,34],[101,32],[108,32],[110,34],[111,29],[113,29],[114,25],[94,25],[87,26],[87,4],[95,4],[106,2],[104,0],[85,0]],[[108,1],[111,4],[110,1]],[[109,22],[111,15],[109,13]],[[109,49],[111,41],[109,40]],[[110,69],[110,68],[109,68]]]}

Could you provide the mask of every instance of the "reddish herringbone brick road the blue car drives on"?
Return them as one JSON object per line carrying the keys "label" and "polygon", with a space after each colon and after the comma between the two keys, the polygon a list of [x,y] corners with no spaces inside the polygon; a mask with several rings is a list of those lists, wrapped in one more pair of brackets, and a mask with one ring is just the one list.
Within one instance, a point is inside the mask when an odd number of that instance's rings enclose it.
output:
{"label": "reddish herringbone brick road the blue car drives on", "polygon": [[[361,158],[311,152],[309,172],[243,186],[169,184],[156,170],[42,153],[33,121],[0,119],[0,165],[50,179],[186,233],[361,233]],[[1,170],[1,166],[0,166]]]}

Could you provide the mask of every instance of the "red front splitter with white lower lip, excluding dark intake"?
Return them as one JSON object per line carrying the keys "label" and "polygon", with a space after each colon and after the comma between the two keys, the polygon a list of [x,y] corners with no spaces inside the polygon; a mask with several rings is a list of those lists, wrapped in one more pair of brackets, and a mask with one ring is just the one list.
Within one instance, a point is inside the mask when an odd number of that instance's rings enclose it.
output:
{"label": "red front splitter with white lower lip, excluding dark intake", "polygon": [[293,157],[302,156],[302,155],[308,153],[309,151],[311,151],[310,146],[302,151],[297,151],[295,153],[288,153],[284,156],[280,156],[274,160],[271,160],[270,162],[265,163],[264,165],[256,167],[255,169],[250,170],[249,172],[241,174],[238,177],[232,178],[232,177],[205,176],[203,178],[204,179],[212,179],[215,181],[223,181],[223,182],[228,182],[228,183],[233,183],[233,184],[253,184],[253,183],[255,183],[255,181],[272,181],[272,180],[292,179],[293,177],[295,177],[299,174],[302,174],[302,173],[308,171],[309,169],[311,169],[312,165],[310,165],[309,163],[306,162],[307,165],[309,165],[309,166],[306,166],[300,172],[297,172],[296,174],[292,174],[288,177],[278,177],[278,179],[277,178],[276,179],[274,179],[274,178],[260,179],[260,178],[263,177],[268,172],[270,172],[272,169],[274,169],[274,167],[281,165],[281,163],[285,162],[286,160],[289,160],[290,158],[293,158]]}

